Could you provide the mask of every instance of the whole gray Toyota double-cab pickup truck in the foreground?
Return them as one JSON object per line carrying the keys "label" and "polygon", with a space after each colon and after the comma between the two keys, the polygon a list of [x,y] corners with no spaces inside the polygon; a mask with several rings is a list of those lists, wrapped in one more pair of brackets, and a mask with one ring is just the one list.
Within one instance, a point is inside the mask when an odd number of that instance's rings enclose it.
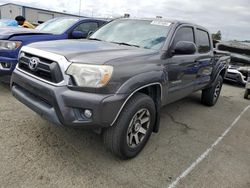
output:
{"label": "whole gray Toyota double-cab pickup truck in the foreground", "polygon": [[53,123],[99,130],[106,148],[128,159],[159,130],[163,105],[198,90],[203,104],[217,102],[230,56],[212,46],[198,25],[118,19],[87,40],[23,47],[11,89]]}

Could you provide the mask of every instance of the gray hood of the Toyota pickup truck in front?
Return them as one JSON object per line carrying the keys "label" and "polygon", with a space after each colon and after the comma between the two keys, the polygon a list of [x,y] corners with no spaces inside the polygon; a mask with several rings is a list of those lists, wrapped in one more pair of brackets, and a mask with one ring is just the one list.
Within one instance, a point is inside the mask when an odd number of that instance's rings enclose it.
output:
{"label": "gray hood of the Toyota pickup truck in front", "polygon": [[62,55],[70,62],[91,64],[105,64],[112,61],[117,62],[120,58],[129,60],[134,57],[143,57],[157,53],[156,50],[93,40],[37,42],[28,46]]}

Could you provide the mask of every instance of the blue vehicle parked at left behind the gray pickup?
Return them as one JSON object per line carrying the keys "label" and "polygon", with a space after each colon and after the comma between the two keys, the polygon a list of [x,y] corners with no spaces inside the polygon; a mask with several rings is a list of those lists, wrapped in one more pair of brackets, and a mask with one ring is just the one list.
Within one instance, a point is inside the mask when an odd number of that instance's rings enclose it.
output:
{"label": "blue vehicle parked at left behind the gray pickup", "polygon": [[36,29],[1,27],[0,81],[10,81],[22,46],[38,41],[86,38],[105,23],[93,18],[61,17],[51,19]]}

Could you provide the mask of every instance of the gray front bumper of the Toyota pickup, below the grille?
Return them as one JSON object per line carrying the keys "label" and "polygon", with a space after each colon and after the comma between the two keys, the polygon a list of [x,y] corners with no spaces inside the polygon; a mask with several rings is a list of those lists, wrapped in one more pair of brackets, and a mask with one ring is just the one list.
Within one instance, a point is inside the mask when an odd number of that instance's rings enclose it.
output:
{"label": "gray front bumper of the Toyota pickup, below the grille", "polygon": [[[12,74],[12,94],[43,118],[59,125],[92,128],[109,127],[126,95],[96,94],[52,86],[18,71]],[[85,109],[93,116],[86,118]]]}

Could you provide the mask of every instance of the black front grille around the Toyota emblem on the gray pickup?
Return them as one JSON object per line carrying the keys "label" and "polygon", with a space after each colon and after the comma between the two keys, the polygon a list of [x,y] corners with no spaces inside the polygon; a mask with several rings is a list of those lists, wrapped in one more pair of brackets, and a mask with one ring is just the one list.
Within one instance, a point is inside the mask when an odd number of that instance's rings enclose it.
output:
{"label": "black front grille around the Toyota emblem on the gray pickup", "polygon": [[[57,62],[28,53],[22,54],[18,62],[18,68],[21,70],[52,83],[59,83],[63,80],[63,75]],[[32,58],[38,60],[37,67],[34,70],[29,66]]]}

